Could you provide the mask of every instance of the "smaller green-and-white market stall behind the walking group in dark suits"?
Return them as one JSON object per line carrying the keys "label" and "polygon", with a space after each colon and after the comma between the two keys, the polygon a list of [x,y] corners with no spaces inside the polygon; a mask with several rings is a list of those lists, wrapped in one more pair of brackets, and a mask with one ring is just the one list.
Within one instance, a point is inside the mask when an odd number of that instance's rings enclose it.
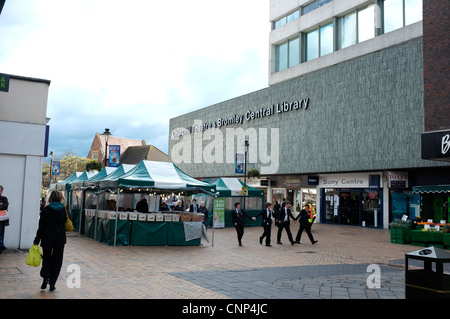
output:
{"label": "smaller green-and-white market stall behind the walking group in dark suits", "polygon": [[[244,209],[244,195],[242,187],[247,187],[248,194],[245,196],[245,212],[250,217],[256,216],[264,208],[264,191],[245,185],[237,178],[219,178],[215,183],[217,198],[214,199],[215,206],[223,206],[223,218],[220,214],[217,217],[215,227],[232,227],[231,211],[234,209],[234,203],[240,202]],[[221,204],[221,205],[218,205]],[[260,226],[261,220],[245,219],[246,226]]]}

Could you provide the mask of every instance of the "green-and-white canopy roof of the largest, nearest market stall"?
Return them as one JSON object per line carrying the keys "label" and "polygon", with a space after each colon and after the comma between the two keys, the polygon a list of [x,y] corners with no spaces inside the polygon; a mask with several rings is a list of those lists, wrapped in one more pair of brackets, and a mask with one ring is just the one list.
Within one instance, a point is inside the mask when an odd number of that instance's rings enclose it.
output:
{"label": "green-and-white canopy roof of the largest, nearest market stall", "polygon": [[187,175],[173,163],[156,161],[141,161],[135,168],[119,177],[117,186],[205,193],[214,193],[215,190],[214,185]]}

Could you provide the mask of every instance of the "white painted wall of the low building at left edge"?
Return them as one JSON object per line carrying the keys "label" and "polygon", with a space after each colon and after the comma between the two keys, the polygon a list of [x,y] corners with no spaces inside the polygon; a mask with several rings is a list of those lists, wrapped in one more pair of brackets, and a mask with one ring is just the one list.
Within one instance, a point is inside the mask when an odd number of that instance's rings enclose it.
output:
{"label": "white painted wall of the low building at left edge", "polygon": [[9,201],[6,248],[33,245],[39,220],[49,81],[11,78],[0,92],[0,185]]}

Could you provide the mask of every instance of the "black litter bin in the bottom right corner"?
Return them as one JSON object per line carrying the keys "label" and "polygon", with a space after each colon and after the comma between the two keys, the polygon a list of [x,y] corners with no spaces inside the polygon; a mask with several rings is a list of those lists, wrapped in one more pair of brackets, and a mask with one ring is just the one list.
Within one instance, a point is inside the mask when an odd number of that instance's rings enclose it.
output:
{"label": "black litter bin in the bottom right corner", "polygon": [[[423,269],[408,269],[410,259],[422,260]],[[444,264],[450,264],[450,253],[443,249],[427,247],[406,253],[405,298],[450,299],[450,274],[444,272]]]}

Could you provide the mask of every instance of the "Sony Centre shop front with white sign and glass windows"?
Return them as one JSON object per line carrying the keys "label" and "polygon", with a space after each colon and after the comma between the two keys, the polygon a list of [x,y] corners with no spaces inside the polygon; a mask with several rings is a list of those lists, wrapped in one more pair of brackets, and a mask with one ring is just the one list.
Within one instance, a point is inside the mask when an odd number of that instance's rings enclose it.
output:
{"label": "Sony Centre shop front with white sign and glass windows", "polygon": [[322,223],[383,228],[381,173],[319,176]]}

